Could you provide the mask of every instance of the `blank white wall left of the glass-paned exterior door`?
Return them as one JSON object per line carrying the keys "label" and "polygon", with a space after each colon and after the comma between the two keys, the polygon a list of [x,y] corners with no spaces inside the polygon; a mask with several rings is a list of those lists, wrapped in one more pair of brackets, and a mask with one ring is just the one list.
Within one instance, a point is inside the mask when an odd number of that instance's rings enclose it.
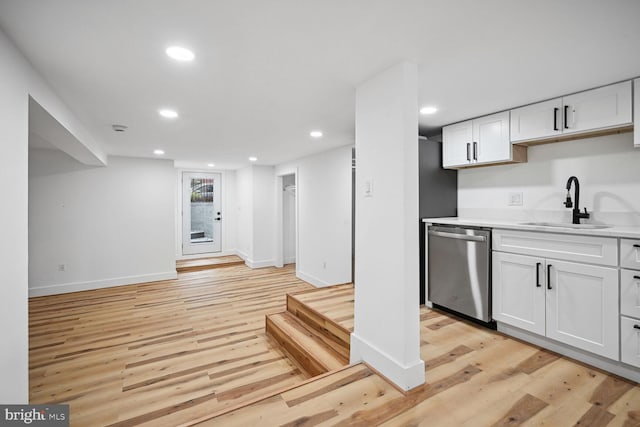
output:
{"label": "blank white wall left of the glass-paned exterior door", "polygon": [[60,154],[30,150],[30,295],[175,278],[173,162],[109,157],[38,176]]}

